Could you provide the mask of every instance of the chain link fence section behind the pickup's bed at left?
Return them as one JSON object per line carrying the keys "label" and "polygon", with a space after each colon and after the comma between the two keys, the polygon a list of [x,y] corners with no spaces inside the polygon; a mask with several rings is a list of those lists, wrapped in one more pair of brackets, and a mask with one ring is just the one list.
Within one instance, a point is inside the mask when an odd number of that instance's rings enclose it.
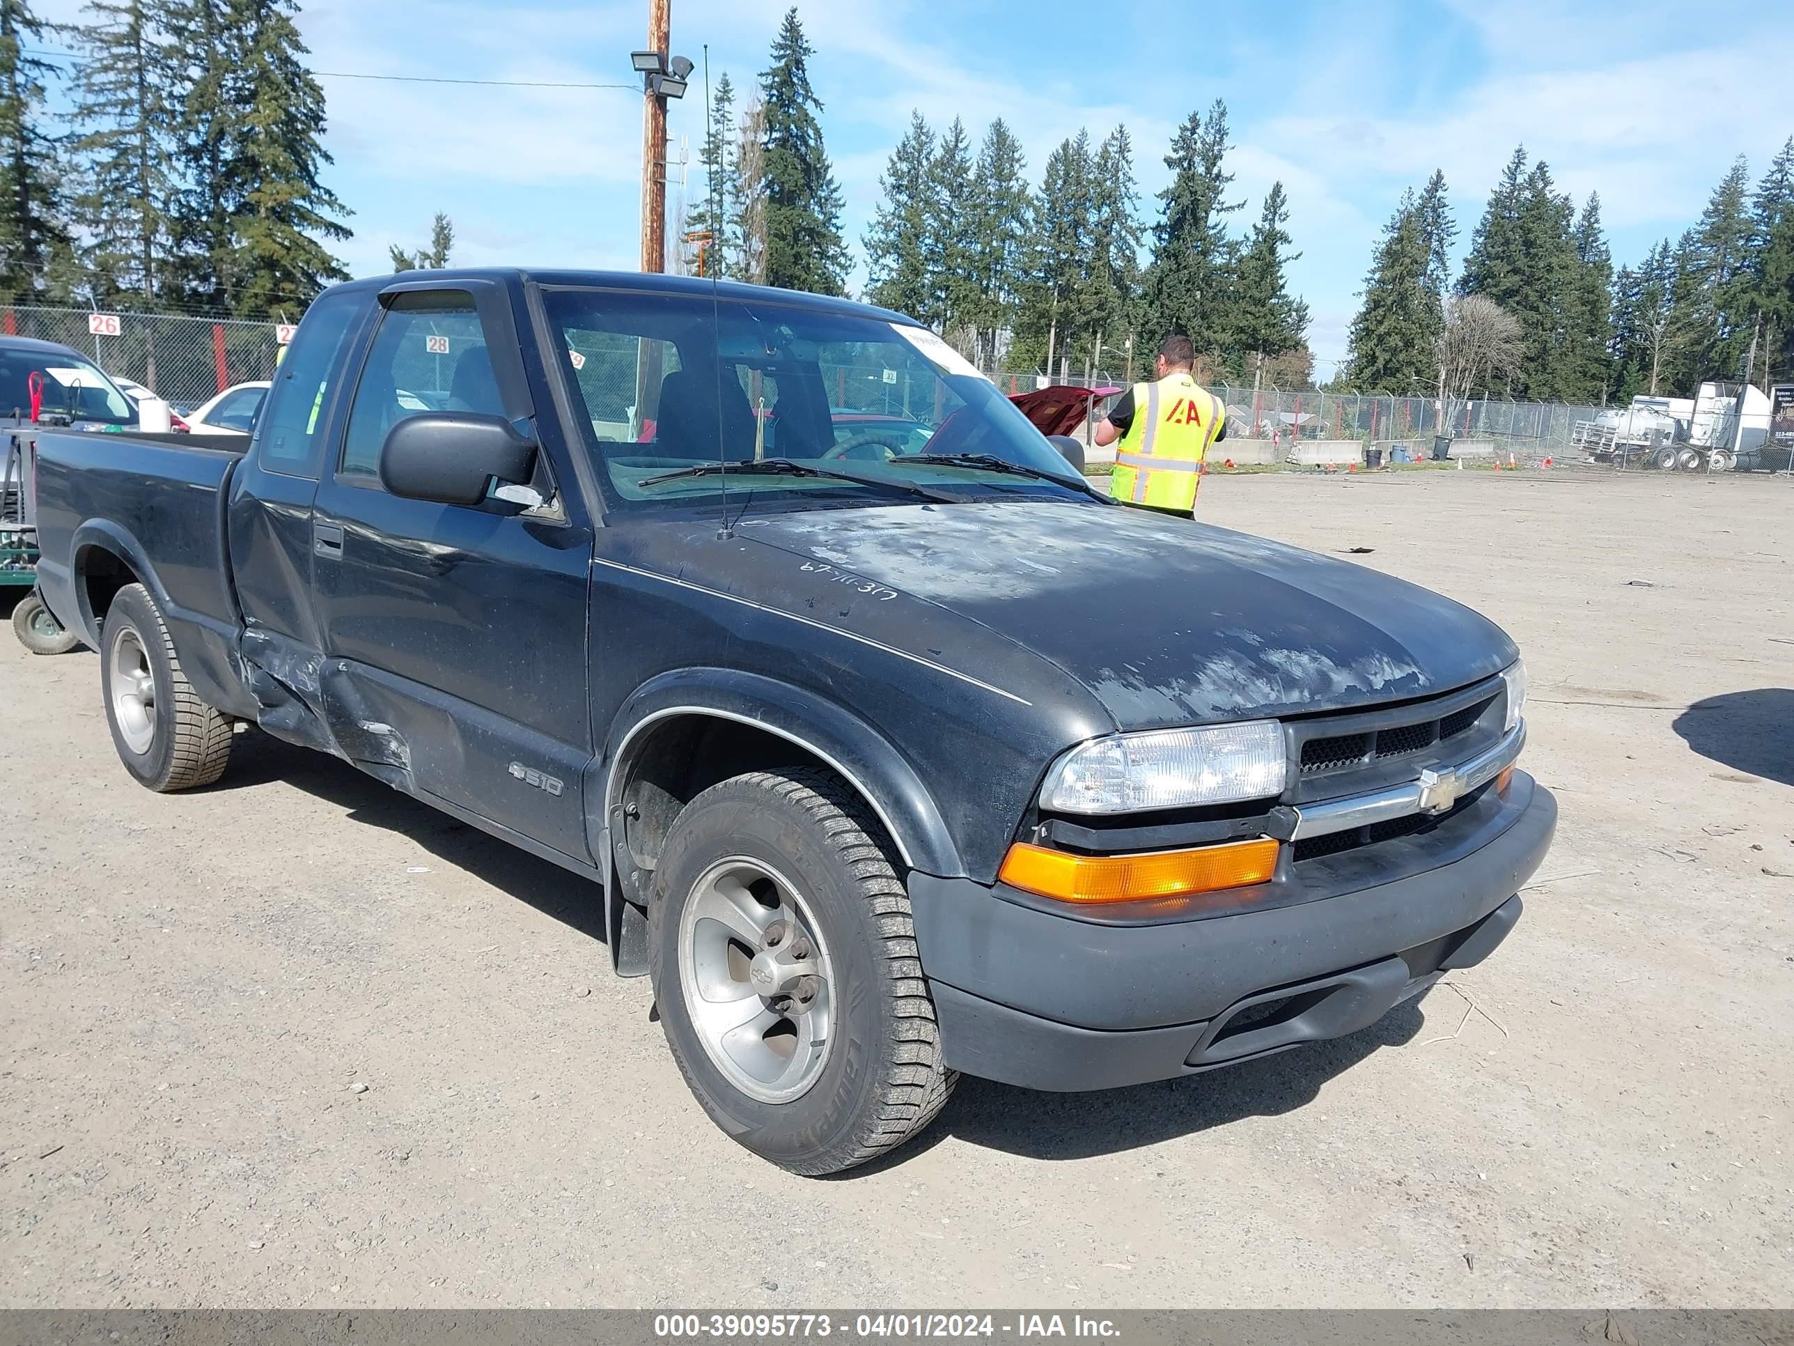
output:
{"label": "chain link fence section behind the pickup's bed at left", "polygon": [[95,316],[86,309],[16,305],[0,309],[0,330],[74,346],[108,373],[144,384],[181,411],[231,384],[273,379],[280,348],[273,323],[167,312]]}

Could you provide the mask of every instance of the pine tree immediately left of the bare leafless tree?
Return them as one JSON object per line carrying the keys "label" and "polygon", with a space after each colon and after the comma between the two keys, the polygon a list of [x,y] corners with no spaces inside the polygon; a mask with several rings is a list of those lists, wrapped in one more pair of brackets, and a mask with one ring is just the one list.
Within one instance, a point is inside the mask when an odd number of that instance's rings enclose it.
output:
{"label": "pine tree immediately left of the bare leafless tree", "polygon": [[1398,393],[1432,386],[1439,368],[1433,339],[1442,319],[1430,267],[1426,221],[1410,188],[1383,226],[1363,280],[1363,303],[1349,337],[1353,388]]}

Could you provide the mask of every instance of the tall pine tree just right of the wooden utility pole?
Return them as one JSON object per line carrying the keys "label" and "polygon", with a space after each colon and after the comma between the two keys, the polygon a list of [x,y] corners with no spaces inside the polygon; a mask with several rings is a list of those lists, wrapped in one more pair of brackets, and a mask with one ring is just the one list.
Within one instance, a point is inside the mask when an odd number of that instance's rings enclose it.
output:
{"label": "tall pine tree just right of the wooden utility pole", "polygon": [[797,7],[786,11],[773,39],[771,65],[761,72],[766,106],[762,176],[766,183],[766,284],[840,294],[847,275],[841,244],[841,188],[822,147],[809,84],[809,57]]}

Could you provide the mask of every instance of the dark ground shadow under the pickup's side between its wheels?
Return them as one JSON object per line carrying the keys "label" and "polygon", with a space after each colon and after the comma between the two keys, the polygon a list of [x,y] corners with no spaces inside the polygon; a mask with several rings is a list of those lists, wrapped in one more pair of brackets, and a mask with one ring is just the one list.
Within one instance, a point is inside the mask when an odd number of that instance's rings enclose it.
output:
{"label": "dark ground shadow under the pickup's side between its wheels", "polygon": [[249,790],[273,781],[335,804],[353,822],[402,833],[445,865],[465,869],[581,935],[605,940],[599,885],[486,836],[328,754],[249,732],[231,747],[230,770],[212,790]]}

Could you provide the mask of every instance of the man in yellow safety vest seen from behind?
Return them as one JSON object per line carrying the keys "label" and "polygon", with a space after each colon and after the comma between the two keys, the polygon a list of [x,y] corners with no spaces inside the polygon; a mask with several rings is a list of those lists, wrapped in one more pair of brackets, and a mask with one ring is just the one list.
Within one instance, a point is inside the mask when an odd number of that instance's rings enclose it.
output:
{"label": "man in yellow safety vest seen from behind", "polygon": [[1197,352],[1186,336],[1159,346],[1157,379],[1134,384],[1096,424],[1096,443],[1116,443],[1109,494],[1118,501],[1193,519],[1202,459],[1227,434],[1227,407],[1197,386]]}

